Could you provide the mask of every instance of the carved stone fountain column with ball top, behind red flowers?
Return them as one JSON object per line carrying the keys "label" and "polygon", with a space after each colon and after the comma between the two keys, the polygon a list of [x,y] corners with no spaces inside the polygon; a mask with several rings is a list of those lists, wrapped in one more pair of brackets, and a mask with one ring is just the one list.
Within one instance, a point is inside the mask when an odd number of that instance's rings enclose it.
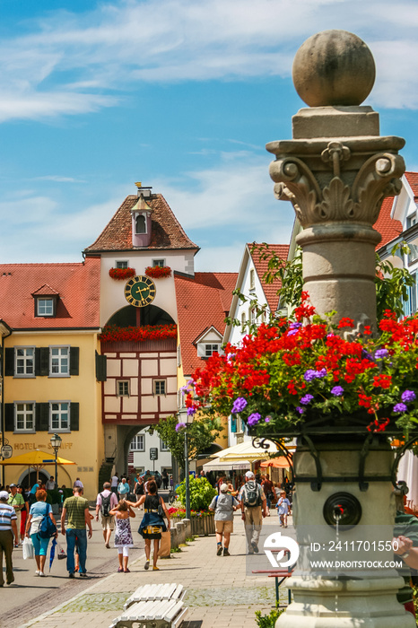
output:
{"label": "carved stone fountain column with ball top, behind red flowers", "polygon": [[[293,139],[267,144],[267,150],[275,155],[270,166],[274,193],[292,202],[303,227],[297,242],[310,301],[319,314],[335,310],[336,319],[353,318],[355,327],[367,324],[376,330],[375,248],[380,235],[373,224],[383,199],[401,189],[405,164],[397,152],[405,142],[380,136],[378,113],[361,106],[374,76],[369,48],[352,33],[325,31],[309,38],[293,64],[295,88],[309,108],[293,117]],[[306,440],[298,441],[294,519],[305,560],[319,530],[326,542],[335,538],[324,507],[341,493],[360,512],[358,525],[342,533],[343,540],[352,541],[361,526],[375,524],[386,527],[391,537],[393,454],[382,440],[370,444],[366,475],[374,478],[366,486],[359,478],[363,443],[334,434],[332,439],[312,438],[309,451]],[[312,448],[326,476],[317,485],[311,483],[318,474]],[[294,602],[276,625],[412,628],[413,616],[396,601],[402,583],[394,569],[353,573],[343,568],[337,574],[296,569],[290,580]]]}

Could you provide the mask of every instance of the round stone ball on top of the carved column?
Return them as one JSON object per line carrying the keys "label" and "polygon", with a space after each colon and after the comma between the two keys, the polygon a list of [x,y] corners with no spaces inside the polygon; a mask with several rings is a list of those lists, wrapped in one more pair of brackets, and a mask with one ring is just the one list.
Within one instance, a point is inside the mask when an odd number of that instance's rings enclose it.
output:
{"label": "round stone ball on top of the carved column", "polygon": [[376,68],[370,48],[348,31],[322,31],[299,48],[293,83],[309,107],[358,106],[373,87]]}

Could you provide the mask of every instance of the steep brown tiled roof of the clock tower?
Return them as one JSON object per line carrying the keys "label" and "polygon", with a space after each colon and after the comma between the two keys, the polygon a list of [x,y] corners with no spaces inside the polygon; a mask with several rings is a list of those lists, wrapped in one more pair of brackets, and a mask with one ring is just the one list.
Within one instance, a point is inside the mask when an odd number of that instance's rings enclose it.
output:
{"label": "steep brown tiled roof of the clock tower", "polygon": [[[117,213],[101,231],[99,238],[85,249],[85,253],[115,250],[138,250],[132,246],[131,208],[138,202],[138,196],[126,196]],[[144,249],[196,249],[192,240],[172,213],[170,205],[161,194],[153,194],[146,199],[152,207],[152,236],[149,247]]]}

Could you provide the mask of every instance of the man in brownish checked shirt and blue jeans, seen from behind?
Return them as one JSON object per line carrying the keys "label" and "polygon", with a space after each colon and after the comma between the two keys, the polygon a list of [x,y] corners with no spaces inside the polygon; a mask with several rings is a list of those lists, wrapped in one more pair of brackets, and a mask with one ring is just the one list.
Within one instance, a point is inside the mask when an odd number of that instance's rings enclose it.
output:
{"label": "man in brownish checked shirt and blue jeans, seen from behind", "polygon": [[[89,502],[83,497],[83,489],[76,487],[73,489],[73,497],[67,497],[61,515],[61,534],[66,536],[66,569],[68,577],[74,578],[74,546],[77,538],[78,552],[80,554],[80,578],[87,578],[85,561],[87,557],[87,534],[85,527],[89,528],[89,538],[93,530],[91,528],[91,515],[89,512]],[[68,515],[68,522],[65,529],[65,517]]]}

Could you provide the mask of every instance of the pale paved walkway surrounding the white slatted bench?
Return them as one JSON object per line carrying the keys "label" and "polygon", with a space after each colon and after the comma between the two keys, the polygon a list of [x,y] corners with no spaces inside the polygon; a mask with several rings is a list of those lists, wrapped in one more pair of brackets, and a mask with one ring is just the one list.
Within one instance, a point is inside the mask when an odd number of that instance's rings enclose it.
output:
{"label": "pale paved walkway surrounding the white slatted bench", "polygon": [[[264,519],[271,531],[278,529],[278,518],[272,512]],[[267,614],[274,607],[274,579],[246,573],[244,527],[236,513],[231,536],[231,556],[216,555],[214,536],[200,536],[182,548],[179,554],[159,562],[160,571],[144,571],[144,557],[130,563],[129,574],[111,573],[92,584],[70,601],[48,610],[36,619],[22,624],[25,628],[61,628],[88,625],[109,626],[120,614],[126,598],[146,583],[176,582],[187,589],[185,601],[189,614],[185,626],[226,628],[244,624],[257,626],[255,611]],[[115,554],[115,566],[117,566]],[[281,592],[285,600],[287,589]],[[46,609],[47,610],[47,609]]]}

